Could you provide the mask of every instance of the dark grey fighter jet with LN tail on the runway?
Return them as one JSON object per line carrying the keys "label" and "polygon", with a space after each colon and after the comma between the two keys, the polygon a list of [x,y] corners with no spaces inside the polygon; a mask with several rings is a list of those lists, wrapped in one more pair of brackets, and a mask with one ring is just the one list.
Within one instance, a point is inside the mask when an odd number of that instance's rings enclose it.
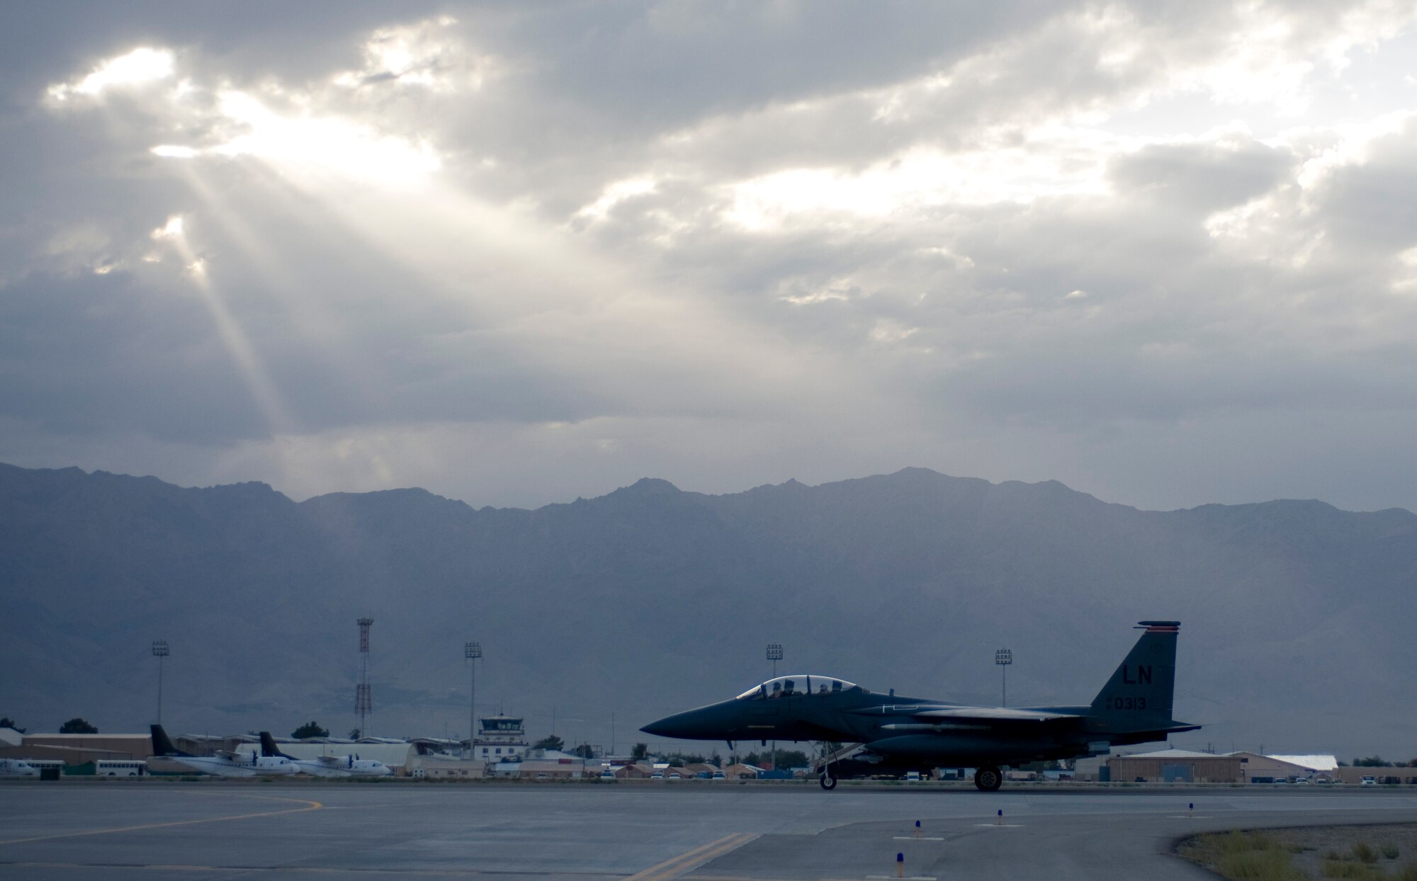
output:
{"label": "dark grey fighter jet with LN tail on the runway", "polygon": [[[1180,622],[1144,620],[1141,639],[1087,707],[962,707],[867,691],[832,676],[779,676],[730,701],[640,728],[693,741],[816,741],[822,789],[839,778],[975,768],[975,786],[1003,783],[1000,766],[1102,755],[1200,725],[1170,718]],[[828,752],[826,744],[846,744]]]}

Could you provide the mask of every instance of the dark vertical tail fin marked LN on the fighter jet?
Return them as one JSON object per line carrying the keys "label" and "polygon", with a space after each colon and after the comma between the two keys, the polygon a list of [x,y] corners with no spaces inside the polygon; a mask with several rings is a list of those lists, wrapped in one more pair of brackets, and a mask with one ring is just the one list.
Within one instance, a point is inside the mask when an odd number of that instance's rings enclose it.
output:
{"label": "dark vertical tail fin marked LN on the fighter jet", "polygon": [[1093,700],[1093,715],[1117,731],[1141,731],[1170,721],[1180,622],[1144,620],[1138,627],[1144,630],[1141,639]]}

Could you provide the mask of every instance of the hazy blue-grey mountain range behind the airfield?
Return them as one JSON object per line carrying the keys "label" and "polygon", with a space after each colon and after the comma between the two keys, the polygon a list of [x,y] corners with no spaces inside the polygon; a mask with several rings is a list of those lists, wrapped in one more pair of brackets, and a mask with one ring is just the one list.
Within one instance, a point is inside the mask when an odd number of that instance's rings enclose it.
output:
{"label": "hazy blue-grey mountain range behind the airfield", "polygon": [[140,731],[167,639],[174,731],[479,714],[625,749],[771,673],[1009,704],[1084,703],[1144,618],[1178,618],[1178,745],[1417,755],[1417,516],[1270,501],[1142,511],[924,469],[704,496],[663,480],[537,510],[425,490],[295,503],[261,483],[0,466],[0,715]]}

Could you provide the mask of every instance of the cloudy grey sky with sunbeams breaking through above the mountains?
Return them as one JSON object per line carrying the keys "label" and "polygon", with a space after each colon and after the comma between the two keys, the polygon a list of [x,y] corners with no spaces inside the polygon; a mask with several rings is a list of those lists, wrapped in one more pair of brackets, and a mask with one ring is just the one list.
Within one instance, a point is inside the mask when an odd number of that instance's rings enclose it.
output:
{"label": "cloudy grey sky with sunbeams breaking through above the mountains", "polygon": [[0,460],[1417,508],[1411,3],[54,3]]}

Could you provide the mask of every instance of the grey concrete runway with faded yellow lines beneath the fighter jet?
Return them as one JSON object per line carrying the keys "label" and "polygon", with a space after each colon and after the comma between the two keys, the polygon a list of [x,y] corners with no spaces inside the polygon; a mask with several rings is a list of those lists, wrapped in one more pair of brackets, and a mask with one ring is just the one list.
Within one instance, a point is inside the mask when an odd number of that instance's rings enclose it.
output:
{"label": "grey concrete runway with faded yellow lines beneath the fighter jet", "polygon": [[1329,823],[1417,790],[7,782],[0,877],[1206,878],[1179,837]]}

